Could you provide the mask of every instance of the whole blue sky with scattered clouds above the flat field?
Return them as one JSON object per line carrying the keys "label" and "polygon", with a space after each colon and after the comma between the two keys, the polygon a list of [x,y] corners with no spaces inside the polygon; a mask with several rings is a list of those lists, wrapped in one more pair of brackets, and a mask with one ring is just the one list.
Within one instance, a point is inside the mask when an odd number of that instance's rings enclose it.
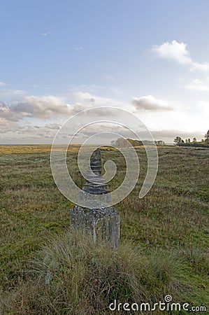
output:
{"label": "whole blue sky with scattered clouds above the flat field", "polygon": [[0,143],[52,143],[80,109],[121,106],[154,138],[203,138],[208,1],[1,1]]}

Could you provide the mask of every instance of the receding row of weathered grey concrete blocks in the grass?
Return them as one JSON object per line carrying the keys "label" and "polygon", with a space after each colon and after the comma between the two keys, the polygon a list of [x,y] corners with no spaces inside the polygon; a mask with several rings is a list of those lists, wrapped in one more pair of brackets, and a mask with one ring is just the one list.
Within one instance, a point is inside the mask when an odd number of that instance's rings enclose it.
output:
{"label": "receding row of weathered grey concrete blocks in the grass", "polygon": [[[108,184],[103,183],[101,172],[101,152],[97,149],[87,170],[87,181],[82,187],[86,193],[86,207],[75,205],[70,210],[71,226],[84,228],[92,234],[95,243],[105,240],[110,246],[117,247],[120,241],[120,214],[115,207],[108,206],[110,204]],[[99,207],[92,209],[92,195],[94,195],[94,202],[100,200],[99,195],[103,195],[103,204],[98,202]]]}

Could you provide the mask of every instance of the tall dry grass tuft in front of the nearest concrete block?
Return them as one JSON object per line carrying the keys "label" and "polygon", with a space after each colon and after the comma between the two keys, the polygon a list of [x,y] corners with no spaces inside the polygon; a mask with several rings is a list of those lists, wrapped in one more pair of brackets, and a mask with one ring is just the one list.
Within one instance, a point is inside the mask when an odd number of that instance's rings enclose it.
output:
{"label": "tall dry grass tuft in front of the nearest concrete block", "polygon": [[1,312],[111,314],[113,300],[140,304],[158,302],[168,293],[178,297],[183,268],[183,260],[174,253],[147,255],[127,242],[113,249],[105,243],[95,245],[82,230],[66,231],[45,243],[27,267],[24,281],[1,294]]}

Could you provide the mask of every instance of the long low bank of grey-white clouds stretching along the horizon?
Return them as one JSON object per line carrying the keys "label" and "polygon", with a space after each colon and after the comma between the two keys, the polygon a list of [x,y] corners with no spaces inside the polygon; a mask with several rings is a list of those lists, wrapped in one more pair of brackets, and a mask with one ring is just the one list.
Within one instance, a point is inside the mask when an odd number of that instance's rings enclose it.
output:
{"label": "long low bank of grey-white clouds stretching along the horizon", "polygon": [[[199,85],[198,81],[196,85]],[[177,135],[184,138],[190,136],[192,138],[193,135],[197,139],[201,139],[201,132],[208,130],[208,102],[195,104],[195,116],[185,111],[184,104],[180,104],[178,110],[175,103],[175,111],[172,111],[172,106],[168,102],[155,99],[152,95],[134,97],[132,105],[124,106],[113,99],[98,97],[89,92],[78,92],[73,94],[71,102],[72,104],[67,104],[63,98],[53,96],[23,96],[22,102],[10,104],[0,102],[1,143],[2,141],[4,143],[21,143],[21,141],[48,143],[55,137],[57,130],[66,118],[84,109],[98,106],[117,106],[132,112],[134,107],[135,114],[152,131],[156,140],[163,139],[166,142],[172,142]],[[191,109],[191,113],[193,110]],[[103,115],[113,114],[111,109],[110,111],[102,109],[102,111]],[[171,111],[169,117],[168,111]],[[98,115],[101,116],[101,111],[96,111],[95,115],[97,115],[96,121],[99,118]],[[78,128],[82,127],[82,123],[82,121],[78,122]],[[120,133],[118,126],[101,126],[99,124],[89,126],[82,132],[83,137],[90,137],[95,132],[108,130]],[[69,137],[69,134],[66,137]]]}

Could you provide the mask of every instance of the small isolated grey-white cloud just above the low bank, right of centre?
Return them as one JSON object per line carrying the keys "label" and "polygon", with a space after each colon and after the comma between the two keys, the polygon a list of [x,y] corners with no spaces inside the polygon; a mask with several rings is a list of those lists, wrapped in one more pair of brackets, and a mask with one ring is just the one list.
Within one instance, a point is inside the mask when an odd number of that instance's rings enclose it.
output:
{"label": "small isolated grey-white cloud just above the low bank, right of centre", "polygon": [[152,95],[133,97],[132,104],[137,111],[172,111],[173,109],[165,101],[155,99]]}

